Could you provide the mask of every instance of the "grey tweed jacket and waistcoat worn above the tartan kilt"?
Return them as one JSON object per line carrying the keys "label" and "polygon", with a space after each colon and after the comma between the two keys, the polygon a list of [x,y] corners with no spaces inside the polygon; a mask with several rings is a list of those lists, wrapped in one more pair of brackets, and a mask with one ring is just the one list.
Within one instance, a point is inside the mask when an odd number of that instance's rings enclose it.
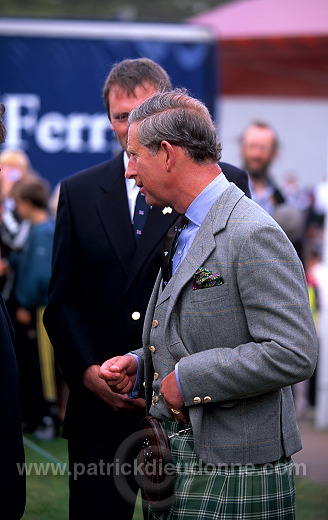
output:
{"label": "grey tweed jacket and waistcoat worn above the tartan kilt", "polygon": [[[199,267],[220,285],[193,288]],[[150,413],[172,419],[160,382],[179,362],[203,461],[263,464],[299,451],[290,385],[311,376],[318,344],[303,267],[278,224],[231,184],[161,285],[159,274],[136,351]]]}

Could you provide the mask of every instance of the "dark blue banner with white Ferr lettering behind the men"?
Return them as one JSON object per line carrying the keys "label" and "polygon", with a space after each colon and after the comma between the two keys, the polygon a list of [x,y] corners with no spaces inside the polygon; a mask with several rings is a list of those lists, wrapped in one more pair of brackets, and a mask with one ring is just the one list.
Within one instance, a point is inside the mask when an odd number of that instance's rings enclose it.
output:
{"label": "dark blue banner with white Ferr lettering behind the men", "polygon": [[188,88],[213,113],[214,53],[212,42],[0,34],[0,98],[8,131],[4,147],[24,149],[35,171],[54,186],[119,149],[102,102],[114,63],[152,58],[174,86]]}

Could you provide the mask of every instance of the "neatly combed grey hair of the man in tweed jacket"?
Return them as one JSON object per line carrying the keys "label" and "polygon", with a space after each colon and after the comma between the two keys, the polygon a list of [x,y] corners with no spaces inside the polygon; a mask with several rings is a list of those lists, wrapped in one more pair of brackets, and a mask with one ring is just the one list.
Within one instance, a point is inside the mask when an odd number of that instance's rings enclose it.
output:
{"label": "neatly combed grey hair of the man in tweed jacket", "polygon": [[138,140],[151,153],[156,154],[165,140],[184,148],[197,164],[221,158],[221,144],[209,111],[184,89],[154,94],[130,113],[132,123],[140,123]]}

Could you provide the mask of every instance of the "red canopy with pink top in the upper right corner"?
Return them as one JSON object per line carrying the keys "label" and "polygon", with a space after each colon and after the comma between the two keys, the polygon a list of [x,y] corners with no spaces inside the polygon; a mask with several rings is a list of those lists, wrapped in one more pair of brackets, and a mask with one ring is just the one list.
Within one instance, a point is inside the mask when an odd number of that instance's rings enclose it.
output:
{"label": "red canopy with pink top in the upper right corner", "polygon": [[327,0],[237,0],[187,22],[218,38],[221,93],[328,97]]}

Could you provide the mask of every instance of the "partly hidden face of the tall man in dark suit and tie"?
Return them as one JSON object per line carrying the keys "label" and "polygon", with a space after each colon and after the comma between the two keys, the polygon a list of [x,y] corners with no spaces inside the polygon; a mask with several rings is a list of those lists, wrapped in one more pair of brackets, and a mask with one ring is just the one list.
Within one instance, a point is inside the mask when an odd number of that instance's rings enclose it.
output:
{"label": "partly hidden face of the tall man in dark suit and tie", "polygon": [[119,86],[114,85],[111,88],[108,96],[110,122],[123,150],[126,150],[127,147],[128,117],[130,112],[156,92],[157,88],[150,83],[138,85],[131,95]]}

